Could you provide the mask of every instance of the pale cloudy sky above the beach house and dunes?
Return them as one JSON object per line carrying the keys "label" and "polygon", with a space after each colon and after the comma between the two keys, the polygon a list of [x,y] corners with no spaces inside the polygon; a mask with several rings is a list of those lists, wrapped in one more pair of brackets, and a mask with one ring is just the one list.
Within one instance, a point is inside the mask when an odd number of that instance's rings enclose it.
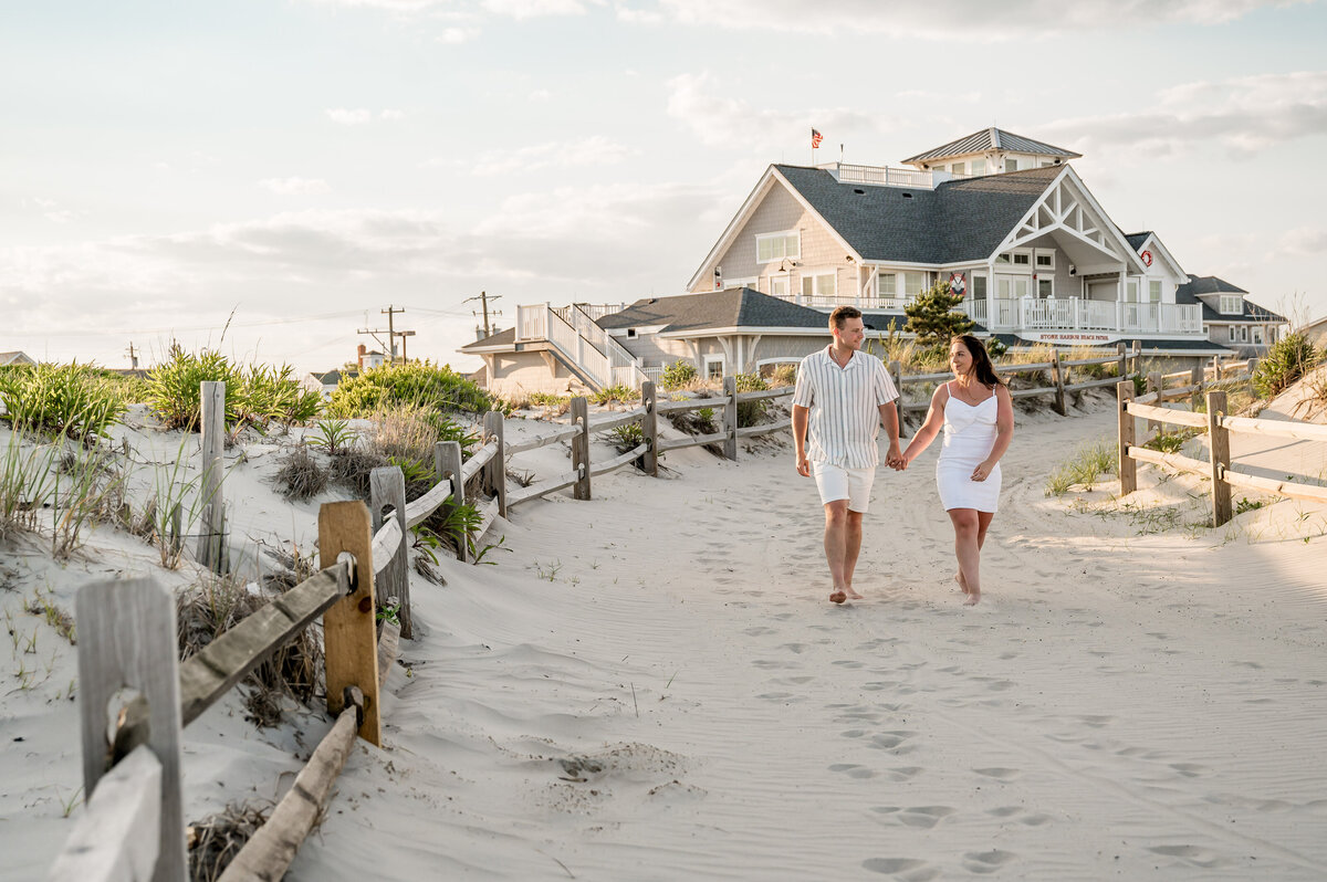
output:
{"label": "pale cloudy sky above the beach house and dunes", "polygon": [[[1327,15],[1259,0],[42,0],[0,11],[0,351],[458,367],[463,302],[681,293],[771,162],[981,127],[1327,314]],[[230,329],[222,329],[234,310]]]}

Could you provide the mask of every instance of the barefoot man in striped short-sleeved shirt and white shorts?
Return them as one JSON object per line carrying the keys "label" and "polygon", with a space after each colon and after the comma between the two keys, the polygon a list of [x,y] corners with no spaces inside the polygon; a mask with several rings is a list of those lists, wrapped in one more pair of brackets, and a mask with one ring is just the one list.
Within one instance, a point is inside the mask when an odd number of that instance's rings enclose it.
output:
{"label": "barefoot man in striped short-sleeved shirt and white shorts", "polygon": [[860,351],[867,338],[861,310],[835,309],[829,313],[829,333],[833,342],[798,366],[792,438],[798,473],[803,477],[815,473],[825,507],[825,560],[833,581],[829,599],[843,603],[861,599],[852,588],[852,573],[861,550],[861,516],[867,513],[880,464],[876,436],[881,422],[889,435],[886,462],[894,466],[902,454],[894,407],[898,391],[884,362]]}

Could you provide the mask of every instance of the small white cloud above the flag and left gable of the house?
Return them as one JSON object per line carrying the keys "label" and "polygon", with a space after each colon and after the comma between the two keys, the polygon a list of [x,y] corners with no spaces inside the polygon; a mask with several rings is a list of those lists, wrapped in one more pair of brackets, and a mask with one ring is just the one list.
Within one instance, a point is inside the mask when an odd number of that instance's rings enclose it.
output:
{"label": "small white cloud above the flag and left gable of the house", "polygon": [[682,74],[667,82],[667,114],[690,127],[701,143],[743,143],[766,157],[788,143],[809,145],[811,127],[828,141],[852,133],[888,130],[896,121],[848,107],[760,110],[736,98],[719,97],[709,73]]}

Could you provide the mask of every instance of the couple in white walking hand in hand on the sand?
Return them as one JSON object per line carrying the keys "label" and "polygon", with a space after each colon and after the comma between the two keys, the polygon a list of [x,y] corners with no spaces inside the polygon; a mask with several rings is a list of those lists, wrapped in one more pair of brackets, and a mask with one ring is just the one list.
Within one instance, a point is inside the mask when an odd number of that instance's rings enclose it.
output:
{"label": "couple in white walking hand in hand on the sand", "polygon": [[990,355],[969,334],[949,345],[954,379],[930,398],[930,410],[906,450],[898,444],[898,390],[878,358],[861,353],[861,312],[839,306],[829,314],[833,342],[802,359],[792,395],[792,438],[798,473],[815,476],[825,511],[825,560],[833,582],[829,599],[861,599],[852,574],[861,550],[861,519],[880,464],[876,438],[889,436],[885,464],[905,470],[945,430],[936,464],[940,501],[954,527],[954,577],[971,606],[982,597],[981,549],[999,499],[999,460],[1014,435],[1014,405]]}

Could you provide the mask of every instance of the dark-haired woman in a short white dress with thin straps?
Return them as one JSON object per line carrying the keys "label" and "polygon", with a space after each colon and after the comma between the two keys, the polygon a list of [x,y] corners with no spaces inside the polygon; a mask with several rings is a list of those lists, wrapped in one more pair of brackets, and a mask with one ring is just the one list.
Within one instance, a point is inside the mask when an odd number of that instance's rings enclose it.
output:
{"label": "dark-haired woman in a short white dress with thin straps", "polygon": [[981,550],[999,501],[999,459],[1014,436],[1014,402],[995,375],[982,341],[971,334],[949,344],[954,379],[930,397],[926,422],[902,454],[906,468],[945,427],[945,446],[936,463],[940,501],[954,524],[954,556],[966,606],[982,598]]}

